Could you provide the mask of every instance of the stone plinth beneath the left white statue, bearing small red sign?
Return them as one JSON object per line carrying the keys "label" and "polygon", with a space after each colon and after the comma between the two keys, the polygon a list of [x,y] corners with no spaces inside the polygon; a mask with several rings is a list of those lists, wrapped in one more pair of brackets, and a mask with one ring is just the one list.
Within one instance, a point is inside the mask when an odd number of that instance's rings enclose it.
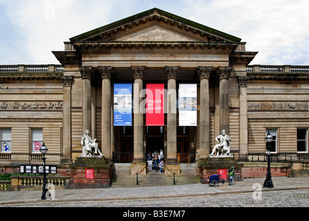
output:
{"label": "stone plinth beneath the left white statue, bearing small red sign", "polygon": [[[71,179],[68,188],[108,188],[113,164],[103,156],[77,157],[69,164]],[[86,169],[93,169],[93,178],[86,178]]]}

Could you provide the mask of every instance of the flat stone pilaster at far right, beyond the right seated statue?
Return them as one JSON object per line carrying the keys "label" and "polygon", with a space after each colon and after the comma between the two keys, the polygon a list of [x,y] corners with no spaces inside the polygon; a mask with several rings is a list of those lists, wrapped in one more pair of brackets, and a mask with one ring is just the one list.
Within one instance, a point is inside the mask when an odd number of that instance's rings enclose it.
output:
{"label": "flat stone pilaster at far right, beyond the right seated statue", "polygon": [[248,102],[249,77],[238,77],[239,86],[239,153],[248,153]]}

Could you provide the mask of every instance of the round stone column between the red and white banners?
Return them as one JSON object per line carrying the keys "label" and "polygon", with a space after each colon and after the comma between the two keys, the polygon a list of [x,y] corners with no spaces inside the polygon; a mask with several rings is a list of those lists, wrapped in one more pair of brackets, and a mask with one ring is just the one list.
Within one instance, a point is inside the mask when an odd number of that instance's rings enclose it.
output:
{"label": "round stone column between the red and white banners", "polygon": [[[177,93],[176,78],[179,66],[166,66],[165,74],[168,79],[168,120],[167,120],[167,153],[166,163],[178,164],[177,162]],[[170,169],[172,171],[172,169]],[[175,171],[176,172],[176,171]],[[179,171],[177,171],[179,173]]]}

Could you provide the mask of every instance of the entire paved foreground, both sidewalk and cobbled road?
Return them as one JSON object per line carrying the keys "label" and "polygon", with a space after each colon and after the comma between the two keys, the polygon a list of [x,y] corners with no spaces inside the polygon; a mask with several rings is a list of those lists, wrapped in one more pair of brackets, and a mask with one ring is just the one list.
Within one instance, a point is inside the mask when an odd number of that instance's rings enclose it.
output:
{"label": "entire paved foreground, both sidewalk and cobbled road", "polygon": [[[48,207],[216,207],[298,206],[308,207],[309,177],[272,177],[274,188],[262,188],[265,178],[243,179],[234,186],[187,184],[107,189],[56,189],[54,200],[41,200],[39,191],[0,191],[2,206]],[[261,198],[261,200],[259,199]],[[256,200],[255,200],[256,199]]]}

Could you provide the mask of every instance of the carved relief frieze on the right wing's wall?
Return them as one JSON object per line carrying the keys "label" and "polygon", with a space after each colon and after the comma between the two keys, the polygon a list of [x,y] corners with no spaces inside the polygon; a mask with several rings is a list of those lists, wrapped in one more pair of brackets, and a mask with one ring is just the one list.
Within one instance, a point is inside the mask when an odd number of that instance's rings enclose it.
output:
{"label": "carved relief frieze on the right wing's wall", "polygon": [[248,102],[248,111],[308,111],[307,102]]}

